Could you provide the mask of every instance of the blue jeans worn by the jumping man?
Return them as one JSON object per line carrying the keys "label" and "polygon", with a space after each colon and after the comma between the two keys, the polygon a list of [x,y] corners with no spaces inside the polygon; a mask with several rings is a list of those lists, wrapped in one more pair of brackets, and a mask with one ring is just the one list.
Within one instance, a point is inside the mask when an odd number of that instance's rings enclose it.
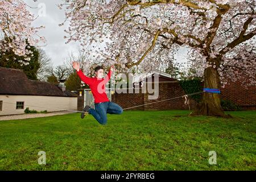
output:
{"label": "blue jeans worn by the jumping man", "polygon": [[122,114],[123,109],[118,104],[114,102],[101,102],[95,104],[95,109],[90,108],[89,114],[92,114],[93,117],[101,124],[106,125],[107,122],[107,113],[109,114]]}

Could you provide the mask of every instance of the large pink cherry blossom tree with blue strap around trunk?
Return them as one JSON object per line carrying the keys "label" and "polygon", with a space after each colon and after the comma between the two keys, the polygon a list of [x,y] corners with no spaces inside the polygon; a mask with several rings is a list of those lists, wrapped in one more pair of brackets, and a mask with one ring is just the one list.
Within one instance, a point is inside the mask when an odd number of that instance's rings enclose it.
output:
{"label": "large pink cherry blossom tree with blue strap around trunk", "polygon": [[[255,84],[254,0],[63,0],[67,43],[80,41],[90,61],[140,65],[144,70],[174,61],[180,46],[204,87],[220,89],[231,78]],[[89,66],[89,64],[87,64]],[[86,67],[86,65],[85,65]],[[204,93],[193,114],[226,117],[220,94]]]}

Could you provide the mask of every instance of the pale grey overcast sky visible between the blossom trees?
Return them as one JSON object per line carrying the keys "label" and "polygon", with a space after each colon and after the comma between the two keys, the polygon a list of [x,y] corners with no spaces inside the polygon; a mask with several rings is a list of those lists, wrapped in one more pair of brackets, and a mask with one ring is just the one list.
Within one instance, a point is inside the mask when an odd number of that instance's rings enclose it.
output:
{"label": "pale grey overcast sky visible between the blossom trees", "polygon": [[[79,42],[65,44],[66,39],[64,39],[64,35],[67,34],[65,34],[64,30],[68,28],[68,22],[65,22],[64,26],[59,26],[60,23],[63,23],[65,18],[64,10],[60,10],[56,6],[61,3],[61,0],[38,0],[37,2],[24,0],[24,2],[26,2],[28,6],[33,7],[28,7],[28,10],[30,10],[35,17],[38,16],[32,25],[35,27],[46,27],[38,34],[44,36],[47,40],[46,46],[43,46],[42,49],[44,49],[51,58],[53,66],[56,67],[57,65],[63,64],[64,59],[67,59],[71,52],[77,55]],[[179,62],[185,62],[185,57],[186,49],[181,48],[178,52],[177,60],[179,60]]]}

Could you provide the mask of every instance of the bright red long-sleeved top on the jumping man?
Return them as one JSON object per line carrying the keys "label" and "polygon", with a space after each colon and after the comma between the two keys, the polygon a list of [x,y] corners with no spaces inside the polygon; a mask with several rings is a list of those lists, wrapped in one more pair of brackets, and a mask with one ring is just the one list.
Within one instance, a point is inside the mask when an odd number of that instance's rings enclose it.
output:
{"label": "bright red long-sleeved top on the jumping man", "polygon": [[109,70],[105,78],[87,77],[84,75],[84,73],[82,73],[81,69],[79,69],[79,71],[76,72],[77,75],[81,78],[81,80],[85,82],[85,84],[89,85],[90,90],[92,90],[95,104],[99,102],[109,101],[109,98],[106,95],[106,83],[110,80],[110,77],[112,75],[111,69]]}

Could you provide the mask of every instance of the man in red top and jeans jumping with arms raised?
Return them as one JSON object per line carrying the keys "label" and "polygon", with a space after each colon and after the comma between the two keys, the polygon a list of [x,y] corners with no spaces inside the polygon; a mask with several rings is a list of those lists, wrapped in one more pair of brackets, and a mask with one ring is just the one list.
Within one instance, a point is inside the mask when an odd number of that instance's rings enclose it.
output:
{"label": "man in red top and jeans jumping with arms raised", "polygon": [[[101,125],[106,125],[107,113],[122,114],[122,107],[114,102],[110,102],[108,96],[106,95],[105,85],[110,80],[114,67],[112,66],[108,74],[103,78],[104,69],[101,66],[97,66],[94,68],[96,76],[90,78],[82,73],[78,62],[74,61],[72,64],[81,80],[85,82],[85,84],[89,85],[94,97],[95,109],[92,109],[90,106],[86,105],[82,111],[84,111],[86,114],[92,114]],[[81,118],[84,118],[85,113],[81,113]]]}

